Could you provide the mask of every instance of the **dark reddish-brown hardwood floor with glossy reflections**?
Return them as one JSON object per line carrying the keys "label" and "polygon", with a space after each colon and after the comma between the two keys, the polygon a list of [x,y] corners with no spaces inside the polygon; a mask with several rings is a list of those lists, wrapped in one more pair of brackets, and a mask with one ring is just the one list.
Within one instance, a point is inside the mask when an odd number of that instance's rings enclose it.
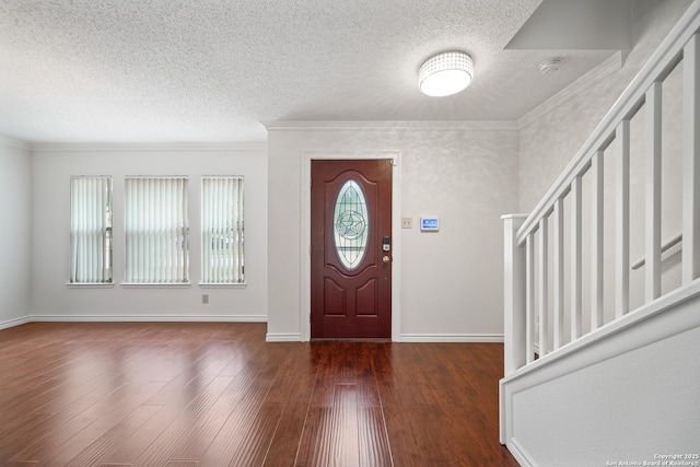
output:
{"label": "dark reddish-brown hardwood floor with glossy reflections", "polygon": [[3,466],[517,466],[497,343],[265,342],[265,324],[0,330]]}

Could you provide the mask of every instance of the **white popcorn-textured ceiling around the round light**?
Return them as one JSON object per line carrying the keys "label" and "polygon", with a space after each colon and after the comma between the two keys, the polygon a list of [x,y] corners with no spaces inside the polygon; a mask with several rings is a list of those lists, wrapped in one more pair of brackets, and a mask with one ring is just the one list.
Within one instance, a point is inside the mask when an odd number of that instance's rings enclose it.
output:
{"label": "white popcorn-textured ceiling around the round light", "polygon": [[[0,0],[0,135],[264,141],[271,120],[515,120],[611,50],[504,49],[541,0]],[[436,51],[475,81],[419,93]],[[565,58],[557,73],[538,63]]]}

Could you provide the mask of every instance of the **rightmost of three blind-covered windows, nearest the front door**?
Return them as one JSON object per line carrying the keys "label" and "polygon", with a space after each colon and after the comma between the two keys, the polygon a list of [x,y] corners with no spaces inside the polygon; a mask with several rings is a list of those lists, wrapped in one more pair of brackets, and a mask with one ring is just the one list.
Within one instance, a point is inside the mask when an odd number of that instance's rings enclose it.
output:
{"label": "rightmost of three blind-covered windows, nearest the front door", "polygon": [[243,283],[243,177],[203,177],[201,188],[201,281]]}

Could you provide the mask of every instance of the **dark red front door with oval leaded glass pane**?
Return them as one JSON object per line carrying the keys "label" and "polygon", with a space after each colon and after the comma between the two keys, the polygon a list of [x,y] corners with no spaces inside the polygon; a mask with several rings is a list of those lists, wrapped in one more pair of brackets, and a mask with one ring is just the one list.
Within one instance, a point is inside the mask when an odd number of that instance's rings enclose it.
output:
{"label": "dark red front door with oval leaded glass pane", "polygon": [[392,337],[390,160],[311,163],[311,337]]}

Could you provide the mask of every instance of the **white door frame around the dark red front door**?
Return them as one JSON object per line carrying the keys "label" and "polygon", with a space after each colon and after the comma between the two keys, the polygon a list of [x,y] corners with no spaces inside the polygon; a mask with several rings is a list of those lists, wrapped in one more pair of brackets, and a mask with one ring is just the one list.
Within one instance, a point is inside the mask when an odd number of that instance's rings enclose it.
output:
{"label": "white door frame around the dark red front door", "polygon": [[401,153],[400,151],[304,151],[301,161],[300,329],[302,341],[311,340],[311,161],[317,159],[392,160],[392,340],[401,329]]}

